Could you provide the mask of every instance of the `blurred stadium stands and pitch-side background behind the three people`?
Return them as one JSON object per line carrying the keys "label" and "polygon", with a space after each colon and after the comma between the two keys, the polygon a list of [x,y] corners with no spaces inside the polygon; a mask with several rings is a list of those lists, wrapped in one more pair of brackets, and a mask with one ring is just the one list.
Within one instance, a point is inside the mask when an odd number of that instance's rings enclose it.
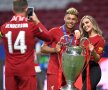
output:
{"label": "blurred stadium stands and pitch-side background behind the three people", "polygon": [[[102,79],[97,86],[97,90],[108,90],[108,0],[28,0],[29,6],[35,8],[35,12],[41,22],[49,30],[55,26],[64,24],[63,17],[65,10],[69,7],[75,7],[79,11],[79,21],[84,15],[92,15],[98,22],[103,31],[106,40],[103,58],[100,61],[102,68]],[[0,26],[12,18],[12,0],[0,0]],[[79,22],[78,22],[79,24]],[[78,29],[78,24],[76,29]],[[42,41],[38,40],[38,45],[42,45]],[[37,47],[36,47],[37,48]],[[40,48],[40,46],[38,46]],[[38,73],[39,87],[44,87],[43,80],[46,78],[46,70],[49,55],[38,53],[38,62],[42,69]],[[3,43],[0,40],[0,90],[3,88],[3,65],[5,61],[5,52]],[[44,85],[44,86],[43,86]],[[76,86],[81,88],[81,77],[76,82]],[[45,89],[45,88],[44,88]]]}

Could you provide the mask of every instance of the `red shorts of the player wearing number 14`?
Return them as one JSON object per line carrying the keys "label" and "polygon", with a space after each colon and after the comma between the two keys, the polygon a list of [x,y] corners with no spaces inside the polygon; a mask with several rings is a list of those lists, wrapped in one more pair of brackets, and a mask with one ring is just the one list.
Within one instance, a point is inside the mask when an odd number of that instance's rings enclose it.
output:
{"label": "red shorts of the player wearing number 14", "polygon": [[36,76],[5,77],[6,90],[37,90]]}

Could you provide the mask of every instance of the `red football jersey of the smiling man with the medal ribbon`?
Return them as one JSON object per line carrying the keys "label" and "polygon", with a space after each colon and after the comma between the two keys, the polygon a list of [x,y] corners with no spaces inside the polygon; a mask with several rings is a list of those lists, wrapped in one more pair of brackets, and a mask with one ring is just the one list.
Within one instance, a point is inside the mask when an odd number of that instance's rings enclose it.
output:
{"label": "red football jersey of the smiling man with the medal ribbon", "polygon": [[[49,42],[49,43],[46,43],[46,44],[50,45],[52,48],[54,48],[56,46],[56,44],[60,41],[60,38],[62,36],[64,36],[64,32],[62,30],[62,27],[52,28],[51,30],[49,30],[49,34],[52,37],[52,41]],[[66,32],[66,35],[70,35],[70,34],[72,34],[72,33],[71,32]],[[75,38],[73,38],[72,45],[73,44],[75,44]],[[53,74],[58,73],[58,70],[59,70],[59,67],[60,67],[59,65],[60,65],[60,62],[59,62],[57,53],[51,53],[50,54],[50,60],[49,60],[49,63],[48,63],[47,72],[48,73],[53,73]]]}

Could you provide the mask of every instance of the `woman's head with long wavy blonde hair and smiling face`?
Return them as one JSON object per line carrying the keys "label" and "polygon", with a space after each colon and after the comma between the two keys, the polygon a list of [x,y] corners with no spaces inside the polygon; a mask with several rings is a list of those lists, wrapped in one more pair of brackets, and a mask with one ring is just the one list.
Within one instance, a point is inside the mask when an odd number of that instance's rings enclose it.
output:
{"label": "woman's head with long wavy blonde hair and smiling face", "polygon": [[102,35],[102,31],[99,28],[99,25],[90,15],[85,15],[82,17],[79,24],[79,30],[82,37],[94,36],[96,34]]}

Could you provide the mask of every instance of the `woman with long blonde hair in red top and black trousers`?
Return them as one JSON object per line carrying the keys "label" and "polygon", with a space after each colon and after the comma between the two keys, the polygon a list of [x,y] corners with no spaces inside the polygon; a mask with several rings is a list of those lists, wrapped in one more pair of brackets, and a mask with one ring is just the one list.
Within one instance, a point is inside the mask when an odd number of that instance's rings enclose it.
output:
{"label": "woman with long blonde hair in red top and black trousers", "polygon": [[96,20],[90,15],[82,17],[79,29],[81,36],[87,37],[90,41],[87,48],[91,53],[89,63],[82,72],[82,90],[96,90],[101,79],[101,69],[98,62],[102,56],[105,41]]}

